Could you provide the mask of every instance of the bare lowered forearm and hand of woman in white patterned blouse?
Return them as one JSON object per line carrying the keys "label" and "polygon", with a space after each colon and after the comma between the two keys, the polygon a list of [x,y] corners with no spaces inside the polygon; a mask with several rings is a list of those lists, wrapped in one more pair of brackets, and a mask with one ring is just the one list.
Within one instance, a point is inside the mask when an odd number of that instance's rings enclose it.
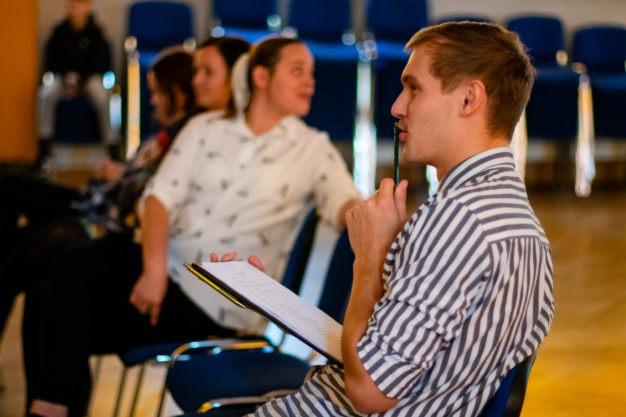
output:
{"label": "bare lowered forearm and hand of woman in white patterned blouse", "polygon": [[150,316],[156,326],[161,304],[167,293],[167,242],[169,214],[158,198],[146,198],[141,216],[143,272],[130,294],[130,303],[141,314]]}

